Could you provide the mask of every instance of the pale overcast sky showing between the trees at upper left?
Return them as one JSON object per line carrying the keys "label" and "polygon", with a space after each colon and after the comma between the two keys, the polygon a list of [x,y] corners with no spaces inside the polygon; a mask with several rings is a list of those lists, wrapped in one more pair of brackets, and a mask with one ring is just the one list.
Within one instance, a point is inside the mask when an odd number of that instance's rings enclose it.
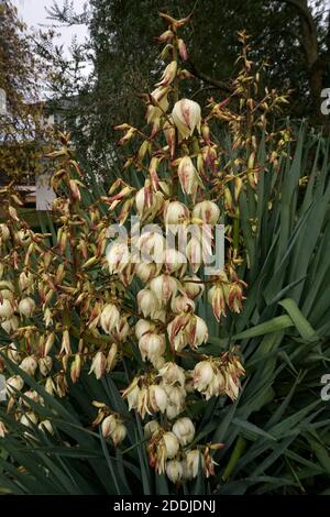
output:
{"label": "pale overcast sky showing between the trees at upper left", "polygon": [[[76,12],[80,12],[86,0],[74,0]],[[12,3],[18,8],[20,18],[26,23],[28,26],[40,28],[41,25],[51,25],[52,21],[47,20],[47,12],[45,8],[51,8],[53,0],[12,0]],[[63,6],[63,0],[57,0],[58,6]],[[58,31],[59,32],[59,31]],[[67,50],[74,35],[77,36],[78,42],[84,41],[87,34],[85,25],[75,25],[72,28],[61,28],[61,36],[57,42],[63,43]]]}

